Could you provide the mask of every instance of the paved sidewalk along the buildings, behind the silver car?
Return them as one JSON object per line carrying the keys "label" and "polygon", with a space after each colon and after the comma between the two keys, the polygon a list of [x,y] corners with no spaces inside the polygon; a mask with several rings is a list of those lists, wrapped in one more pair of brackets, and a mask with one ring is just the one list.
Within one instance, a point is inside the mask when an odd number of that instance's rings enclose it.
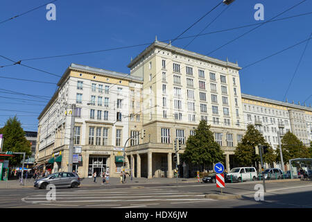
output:
{"label": "paved sidewalk along the buildings, behind the silver car", "polygon": [[[139,186],[139,185],[146,185],[146,184],[174,184],[174,183],[184,183],[184,182],[197,182],[196,178],[129,178],[125,179],[125,183],[120,183],[120,178],[110,178],[109,185],[102,185],[102,178],[96,178],[96,183],[93,182],[93,178],[81,178],[80,179],[80,187],[99,187],[99,186]],[[35,180],[27,179],[26,182],[24,180],[24,186],[19,184],[19,180],[7,180],[7,181],[0,181],[0,189],[25,189],[33,187],[33,183]],[[200,180],[201,182],[201,180]]]}

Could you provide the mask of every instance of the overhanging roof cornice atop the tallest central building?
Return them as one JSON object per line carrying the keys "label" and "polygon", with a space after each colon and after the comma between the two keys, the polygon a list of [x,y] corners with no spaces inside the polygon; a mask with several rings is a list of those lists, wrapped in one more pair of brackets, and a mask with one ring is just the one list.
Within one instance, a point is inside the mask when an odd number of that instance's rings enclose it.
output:
{"label": "overhanging roof cornice atop the tallest central building", "polygon": [[154,49],[154,48],[160,48],[160,49],[164,49],[166,48],[166,50],[168,51],[173,51],[174,53],[179,53],[179,54],[183,54],[185,56],[189,56],[198,60],[203,60],[205,62],[211,62],[214,63],[216,65],[220,65],[220,66],[224,66],[224,67],[230,67],[232,69],[241,69],[241,67],[239,67],[239,65],[237,63],[233,63],[233,62],[228,62],[228,61],[223,61],[223,60],[218,60],[216,58],[212,58],[209,56],[205,56],[202,55],[200,53],[195,53],[193,51],[188,51],[185,49],[181,49],[179,47],[175,47],[172,46],[171,44],[166,44],[165,42],[159,42],[159,41],[155,41],[152,44],[150,44],[150,46],[148,46],[146,49],[144,49],[144,51],[142,51],[139,56],[137,56],[134,60],[132,60],[128,67],[132,67],[133,65],[135,65],[136,62],[138,62],[142,56],[144,56],[146,53],[148,53],[150,50]]}

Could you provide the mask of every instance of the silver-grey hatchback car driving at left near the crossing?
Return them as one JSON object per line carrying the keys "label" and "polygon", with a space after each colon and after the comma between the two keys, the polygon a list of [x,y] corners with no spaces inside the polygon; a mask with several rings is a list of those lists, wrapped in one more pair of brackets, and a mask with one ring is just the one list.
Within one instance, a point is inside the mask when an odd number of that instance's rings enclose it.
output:
{"label": "silver-grey hatchback car driving at left near the crossing", "polygon": [[55,187],[77,188],[80,185],[80,178],[76,173],[53,173],[45,178],[36,180],[33,186],[40,189],[46,189],[46,186],[49,184],[55,185]]}

